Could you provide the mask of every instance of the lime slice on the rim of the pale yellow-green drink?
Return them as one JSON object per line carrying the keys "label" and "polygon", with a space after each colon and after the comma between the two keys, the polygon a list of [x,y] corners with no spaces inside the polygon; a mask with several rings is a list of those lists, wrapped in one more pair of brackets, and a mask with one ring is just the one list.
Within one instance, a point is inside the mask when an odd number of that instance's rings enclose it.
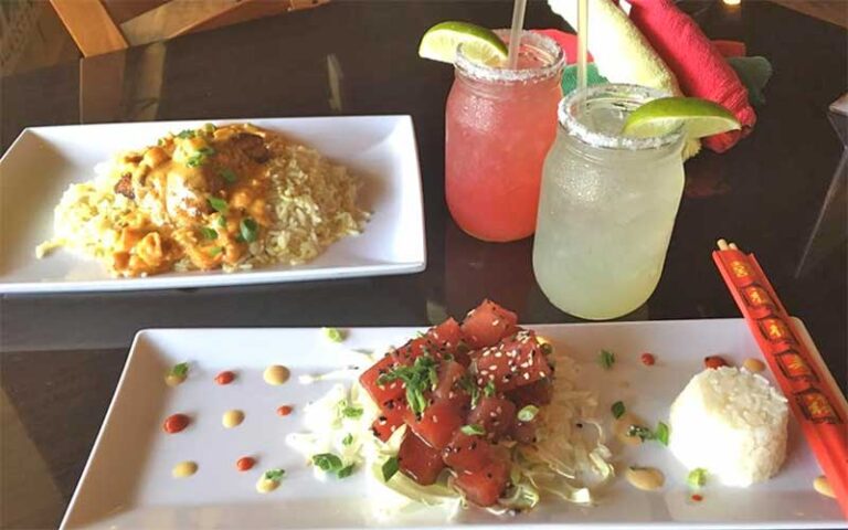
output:
{"label": "lime slice on the rim of the pale yellow-green drink", "polygon": [[702,138],[740,129],[739,120],[721,105],[699,97],[661,97],[627,116],[625,136],[649,138],[675,131],[680,125],[687,138]]}

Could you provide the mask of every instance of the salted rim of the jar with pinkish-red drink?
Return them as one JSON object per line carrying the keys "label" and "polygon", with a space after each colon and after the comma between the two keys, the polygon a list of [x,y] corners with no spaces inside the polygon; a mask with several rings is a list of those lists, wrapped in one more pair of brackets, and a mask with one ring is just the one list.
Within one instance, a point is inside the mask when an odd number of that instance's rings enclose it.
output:
{"label": "salted rim of the jar with pinkish-red drink", "polygon": [[[495,30],[495,34],[509,45],[509,30]],[[556,41],[550,36],[523,30],[521,32],[521,44],[530,45],[545,52],[553,57],[552,62],[547,66],[538,68],[509,70],[487,66],[485,64],[475,63],[466,57],[463,54],[463,45],[459,44],[456,49],[456,62],[454,64],[463,74],[474,77],[475,80],[504,83],[545,80],[555,76],[565,66],[565,52],[563,52],[562,47],[556,44]]]}

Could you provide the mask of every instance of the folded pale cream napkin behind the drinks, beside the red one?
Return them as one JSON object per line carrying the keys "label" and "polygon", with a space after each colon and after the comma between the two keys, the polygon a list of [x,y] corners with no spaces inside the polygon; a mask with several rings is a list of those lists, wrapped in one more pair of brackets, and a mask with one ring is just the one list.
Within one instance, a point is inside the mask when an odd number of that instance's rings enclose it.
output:
{"label": "folded pale cream napkin behind the drinks, beside the red one", "polygon": [[[548,0],[548,4],[572,28],[577,26],[576,0]],[[611,83],[633,83],[682,95],[675,74],[618,6],[612,0],[589,0],[589,50],[601,75]],[[700,142],[689,140],[683,158],[699,150]]]}

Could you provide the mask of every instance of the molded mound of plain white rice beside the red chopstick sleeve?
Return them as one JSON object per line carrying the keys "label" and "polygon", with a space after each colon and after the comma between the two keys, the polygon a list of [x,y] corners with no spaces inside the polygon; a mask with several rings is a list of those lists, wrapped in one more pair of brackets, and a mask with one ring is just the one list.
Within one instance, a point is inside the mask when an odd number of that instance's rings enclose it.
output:
{"label": "molded mound of plain white rice beside the red chopstick sleeve", "polygon": [[689,469],[728,486],[777,473],[786,456],[788,406],[762,375],[721,367],[689,381],[671,405],[669,448]]}

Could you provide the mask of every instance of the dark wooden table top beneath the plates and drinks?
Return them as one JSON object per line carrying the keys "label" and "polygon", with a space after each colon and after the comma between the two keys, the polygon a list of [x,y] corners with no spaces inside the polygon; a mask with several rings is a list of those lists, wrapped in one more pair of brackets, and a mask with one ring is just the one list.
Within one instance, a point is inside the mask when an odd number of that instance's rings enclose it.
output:
{"label": "dark wooden table top beneath the plates and drinks", "polygon": [[[648,304],[626,318],[736,317],[710,259],[716,240],[727,236],[756,253],[845,391],[845,226],[836,227],[836,243],[815,226],[842,153],[827,107],[848,85],[846,31],[765,1],[744,1],[741,9],[685,6],[712,38],[742,40],[750,54],[768,57],[775,74],[754,134],[725,155],[687,163],[662,279]],[[443,110],[453,73],[418,60],[417,40],[442,20],[505,26],[509,17],[505,1],[336,1],[3,78],[3,149],[23,127],[47,124],[412,114],[428,264],[422,274],[384,278],[3,297],[0,526],[59,523],[138,329],[424,325],[462,315],[483,297],[529,322],[572,321],[539,290],[531,241],[475,241],[444,204]],[[563,23],[531,1],[527,25]],[[332,104],[328,64],[341,73]]]}

